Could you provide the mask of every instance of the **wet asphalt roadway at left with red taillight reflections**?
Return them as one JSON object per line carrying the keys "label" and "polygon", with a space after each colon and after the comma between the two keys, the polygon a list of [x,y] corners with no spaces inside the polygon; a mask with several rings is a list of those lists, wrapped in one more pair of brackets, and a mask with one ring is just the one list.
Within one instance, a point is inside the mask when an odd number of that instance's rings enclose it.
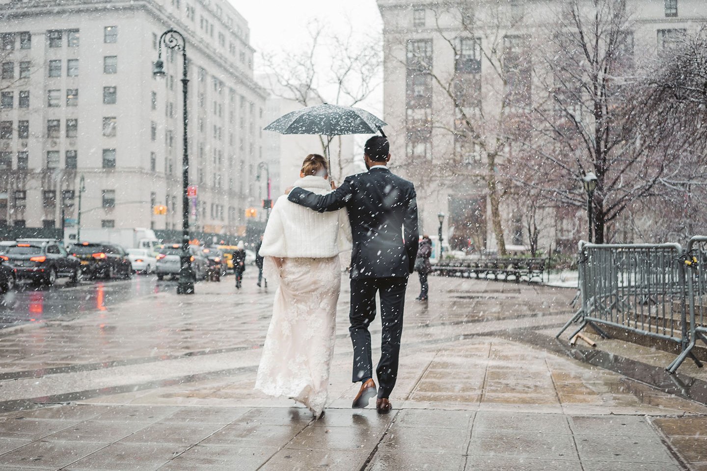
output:
{"label": "wet asphalt roadway at left with red taillight reflections", "polygon": [[54,286],[21,282],[16,290],[0,294],[0,329],[23,323],[75,318],[88,311],[106,311],[128,299],[174,290],[175,287],[176,282],[158,282],[154,276],[78,284],[60,280]]}

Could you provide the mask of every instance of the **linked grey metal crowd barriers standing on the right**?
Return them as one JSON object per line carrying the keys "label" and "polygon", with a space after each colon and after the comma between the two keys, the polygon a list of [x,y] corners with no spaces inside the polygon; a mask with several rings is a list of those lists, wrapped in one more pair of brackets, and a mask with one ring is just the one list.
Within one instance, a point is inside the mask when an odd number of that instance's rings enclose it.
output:
{"label": "linked grey metal crowd barriers standing on the right", "polygon": [[707,342],[707,237],[693,237],[688,249],[679,244],[579,244],[581,306],[556,338],[590,326],[658,338],[679,345],[681,354],[667,366],[674,373],[686,357],[699,360],[696,340]]}

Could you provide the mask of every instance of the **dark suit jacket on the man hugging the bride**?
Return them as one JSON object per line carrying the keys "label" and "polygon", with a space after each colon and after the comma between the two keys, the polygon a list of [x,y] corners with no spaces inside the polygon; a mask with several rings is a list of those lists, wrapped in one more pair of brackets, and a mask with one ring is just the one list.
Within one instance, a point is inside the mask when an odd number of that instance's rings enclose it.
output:
{"label": "dark suit jacket on the man hugging the bride", "polygon": [[417,255],[414,185],[383,166],[346,177],[332,193],[294,188],[288,200],[320,212],[346,207],[351,222],[351,278],[407,277]]}

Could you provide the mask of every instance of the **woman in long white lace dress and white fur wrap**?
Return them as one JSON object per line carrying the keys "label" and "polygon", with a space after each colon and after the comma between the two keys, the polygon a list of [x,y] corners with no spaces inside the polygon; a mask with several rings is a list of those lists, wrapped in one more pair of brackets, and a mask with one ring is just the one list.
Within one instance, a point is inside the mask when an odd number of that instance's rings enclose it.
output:
{"label": "woman in long white lace dress and white fur wrap", "polygon": [[[313,193],[332,191],[327,161],[308,155],[294,183]],[[259,254],[268,279],[279,280],[255,388],[324,414],[334,353],[339,252],[351,249],[346,210],[317,213],[280,196],[265,227]]]}

